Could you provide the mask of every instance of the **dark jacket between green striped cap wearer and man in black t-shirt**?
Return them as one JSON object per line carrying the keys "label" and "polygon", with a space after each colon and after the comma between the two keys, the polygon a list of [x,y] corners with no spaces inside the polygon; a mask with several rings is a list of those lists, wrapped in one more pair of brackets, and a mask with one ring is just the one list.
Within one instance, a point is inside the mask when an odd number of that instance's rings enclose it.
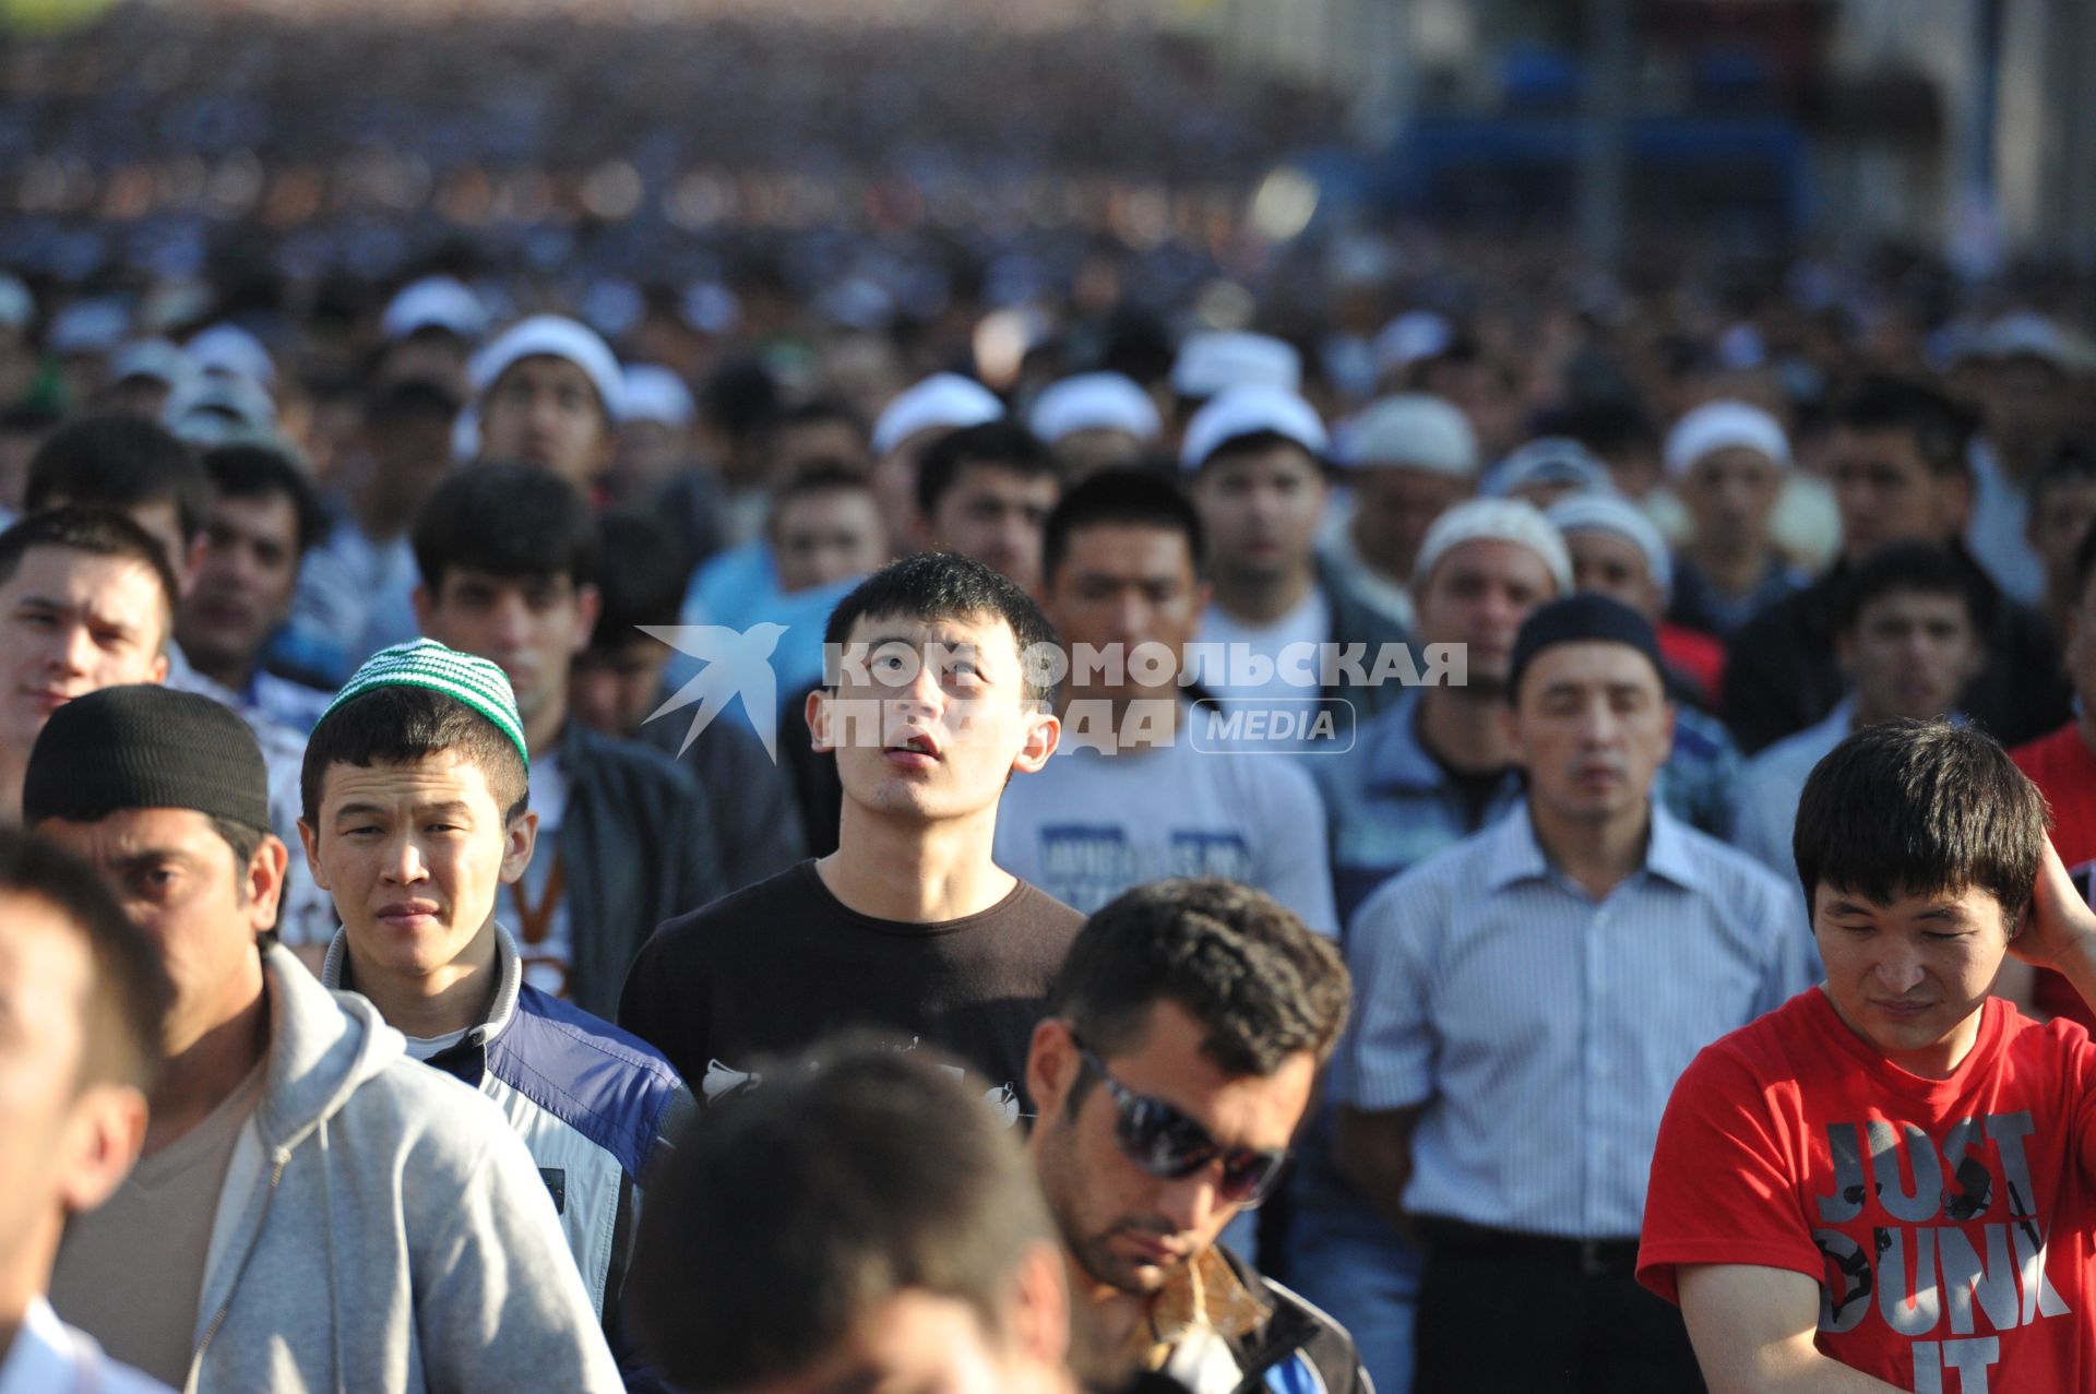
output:
{"label": "dark jacket between green striped cap wearer and man in black t-shirt", "polygon": [[574,971],[568,996],[612,1021],[627,968],[662,920],[727,893],[706,790],[667,755],[568,721],[560,822]]}

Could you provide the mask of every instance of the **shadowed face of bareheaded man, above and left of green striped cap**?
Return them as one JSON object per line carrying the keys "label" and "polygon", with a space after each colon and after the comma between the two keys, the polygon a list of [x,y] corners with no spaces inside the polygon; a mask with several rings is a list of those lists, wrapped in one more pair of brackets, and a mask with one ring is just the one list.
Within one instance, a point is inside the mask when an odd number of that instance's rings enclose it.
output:
{"label": "shadowed face of bareheaded man, above and left of green striped cap", "polygon": [[182,597],[176,637],[208,669],[249,665],[291,616],[298,593],[298,509],[279,493],[216,495],[203,560]]}

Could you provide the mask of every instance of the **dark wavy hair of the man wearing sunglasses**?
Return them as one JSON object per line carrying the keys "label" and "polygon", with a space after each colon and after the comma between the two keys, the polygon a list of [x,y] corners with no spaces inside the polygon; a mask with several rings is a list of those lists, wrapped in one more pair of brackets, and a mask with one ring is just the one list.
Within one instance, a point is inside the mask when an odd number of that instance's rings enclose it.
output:
{"label": "dark wavy hair of the man wearing sunglasses", "polygon": [[1048,1015],[1067,1017],[1111,1059],[1140,1044],[1157,1002],[1174,1002],[1207,1031],[1201,1052],[1224,1073],[1270,1075],[1300,1050],[1320,1065],[1331,1059],[1350,994],[1331,939],[1264,891],[1153,880],[1084,922],[1048,989]]}

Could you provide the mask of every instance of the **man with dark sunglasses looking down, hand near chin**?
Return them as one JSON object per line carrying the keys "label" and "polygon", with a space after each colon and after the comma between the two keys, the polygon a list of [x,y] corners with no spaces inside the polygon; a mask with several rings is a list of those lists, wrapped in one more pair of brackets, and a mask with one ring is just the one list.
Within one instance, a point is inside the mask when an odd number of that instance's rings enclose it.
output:
{"label": "man with dark sunglasses looking down, hand near chin", "polygon": [[1136,887],[1077,933],[1027,1088],[1082,1373],[1369,1394],[1337,1323],[1216,1243],[1281,1178],[1348,992],[1331,941],[1228,880]]}

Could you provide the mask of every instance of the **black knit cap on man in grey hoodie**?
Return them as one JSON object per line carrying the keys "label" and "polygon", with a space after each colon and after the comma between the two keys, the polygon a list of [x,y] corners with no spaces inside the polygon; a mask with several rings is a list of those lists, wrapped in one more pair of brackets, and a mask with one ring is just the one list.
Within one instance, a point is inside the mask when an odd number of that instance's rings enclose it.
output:
{"label": "black knit cap on man in grey hoodie", "polygon": [[268,769],[254,732],[195,692],[103,688],[50,713],[21,788],[27,824],[124,809],[195,809],[268,830]]}

